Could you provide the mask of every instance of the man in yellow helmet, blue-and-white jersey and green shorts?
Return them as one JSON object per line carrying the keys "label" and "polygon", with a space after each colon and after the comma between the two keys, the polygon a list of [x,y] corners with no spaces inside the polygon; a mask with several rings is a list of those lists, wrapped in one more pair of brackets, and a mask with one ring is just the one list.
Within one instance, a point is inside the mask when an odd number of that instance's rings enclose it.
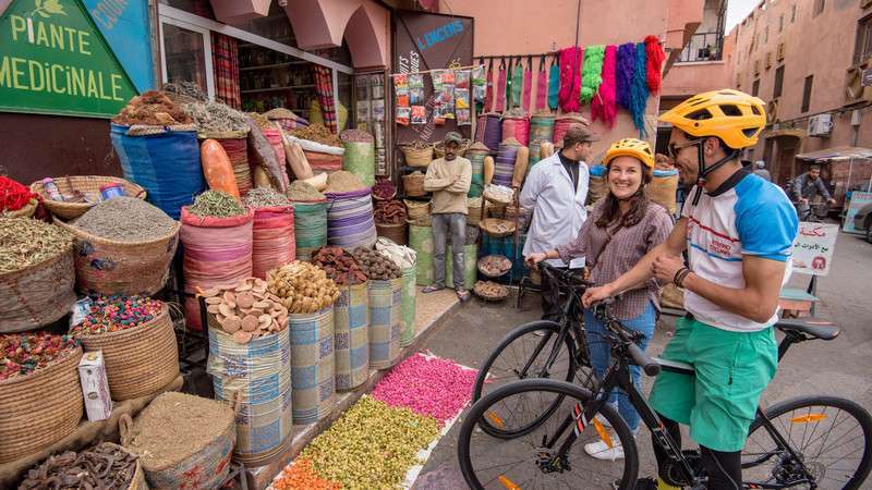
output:
{"label": "man in yellow helmet, blue-and-white jersey and green shorts", "polygon": [[[583,302],[590,306],[654,277],[685,289],[688,316],[663,358],[692,365],[695,376],[661,373],[651,404],[661,430],[679,444],[678,424],[690,426],[701,445],[706,488],[740,489],[740,451],[777,366],[772,326],[799,223],[784,191],[739,162],[739,150],[754,145],[766,123],[762,100],[715,90],[689,98],[661,120],[673,124],[669,157],[681,180],[695,183],[690,200],[665,243],[611,283],[588,290]],[[637,488],[681,485],[665,474],[668,455],[655,448],[661,479]]]}

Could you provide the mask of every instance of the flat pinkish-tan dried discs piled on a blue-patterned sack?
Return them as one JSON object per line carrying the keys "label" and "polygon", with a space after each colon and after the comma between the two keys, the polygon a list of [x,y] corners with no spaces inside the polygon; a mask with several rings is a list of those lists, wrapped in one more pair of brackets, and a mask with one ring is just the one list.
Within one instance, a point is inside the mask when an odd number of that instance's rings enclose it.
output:
{"label": "flat pinkish-tan dried discs piled on a blue-patterned sack", "polygon": [[232,290],[211,289],[203,292],[206,310],[215,315],[221,330],[240,344],[284,330],[288,309],[267,292],[266,281],[249,278]]}

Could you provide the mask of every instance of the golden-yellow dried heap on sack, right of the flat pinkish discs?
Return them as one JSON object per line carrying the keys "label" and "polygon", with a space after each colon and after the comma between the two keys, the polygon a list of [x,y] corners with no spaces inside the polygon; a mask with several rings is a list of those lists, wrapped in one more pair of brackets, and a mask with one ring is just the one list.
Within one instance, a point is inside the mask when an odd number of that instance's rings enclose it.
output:
{"label": "golden-yellow dried heap on sack, right of the flat pinkish discs", "polygon": [[290,314],[313,314],[339,298],[339,290],[324,269],[294,260],[266,274],[268,291]]}

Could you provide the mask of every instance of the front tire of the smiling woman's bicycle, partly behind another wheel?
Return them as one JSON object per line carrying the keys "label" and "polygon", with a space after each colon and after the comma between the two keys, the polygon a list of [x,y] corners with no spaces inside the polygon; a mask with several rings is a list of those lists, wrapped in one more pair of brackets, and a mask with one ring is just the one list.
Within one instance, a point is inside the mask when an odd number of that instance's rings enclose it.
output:
{"label": "front tire of the smiling woman's bicycle, partly behind another wheel", "polygon": [[[540,353],[540,355],[543,355],[543,354],[547,355],[548,353],[550,353],[550,350],[553,348],[553,345],[554,345],[553,342],[555,342],[556,339],[557,339],[556,335],[558,335],[560,333],[560,326],[557,324],[554,321],[549,321],[549,320],[531,321],[530,323],[524,323],[524,324],[516,328],[514,330],[512,330],[511,332],[506,334],[506,336],[502,338],[502,340],[499,342],[499,344],[496,346],[496,348],[494,348],[491,352],[491,354],[487,356],[487,359],[485,359],[485,362],[479,368],[479,375],[475,377],[475,384],[474,384],[473,390],[472,390],[472,402],[473,403],[477,402],[482,397],[482,392],[484,390],[484,385],[485,385],[485,381],[487,379],[487,375],[491,372],[491,368],[494,366],[494,363],[496,363],[496,360],[499,358],[499,356],[502,354],[502,352],[506,351],[506,348],[509,345],[511,345],[513,342],[518,341],[519,339],[524,338],[526,335],[532,335],[533,332],[542,331],[542,330],[548,330],[548,331],[552,332],[552,336],[547,338],[547,342],[549,342],[549,344],[545,345],[545,348],[543,348],[543,351]],[[542,336],[540,339],[542,339],[543,341],[546,340],[545,336]],[[572,382],[572,379],[574,377],[576,370],[578,369],[578,366],[576,365],[576,356],[574,356],[576,346],[572,343],[572,335],[571,334],[567,335],[566,339],[564,340],[564,343],[565,343],[565,347],[564,348],[567,348],[569,351],[569,369],[567,369],[567,372],[566,372],[564,381]],[[553,408],[556,409],[557,406],[559,406],[560,402],[561,402],[560,400],[555,401],[555,406]],[[552,413],[553,412],[547,412],[547,413],[543,414],[543,420],[546,419],[547,417],[549,417]],[[523,427],[523,428],[514,430],[514,431],[500,430],[500,429],[494,427],[488,421],[485,421],[484,425],[482,426],[482,430],[485,430],[491,436],[494,436],[494,437],[497,437],[497,438],[511,439],[511,438],[523,436],[523,433],[529,432],[531,430],[534,430],[535,427],[537,426],[537,424],[541,422],[541,421],[542,420],[534,420],[530,426]]]}

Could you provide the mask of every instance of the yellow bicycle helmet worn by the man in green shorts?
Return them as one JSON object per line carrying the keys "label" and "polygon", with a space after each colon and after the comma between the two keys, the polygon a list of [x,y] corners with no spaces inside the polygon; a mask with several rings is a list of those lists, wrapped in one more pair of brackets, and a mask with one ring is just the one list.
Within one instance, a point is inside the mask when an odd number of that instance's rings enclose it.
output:
{"label": "yellow bicycle helmet worn by the man in green shorts", "polygon": [[661,121],[691,136],[716,136],[730,148],[742,149],[756,145],[766,125],[766,110],[759,98],[725,88],[685,100],[661,115]]}

